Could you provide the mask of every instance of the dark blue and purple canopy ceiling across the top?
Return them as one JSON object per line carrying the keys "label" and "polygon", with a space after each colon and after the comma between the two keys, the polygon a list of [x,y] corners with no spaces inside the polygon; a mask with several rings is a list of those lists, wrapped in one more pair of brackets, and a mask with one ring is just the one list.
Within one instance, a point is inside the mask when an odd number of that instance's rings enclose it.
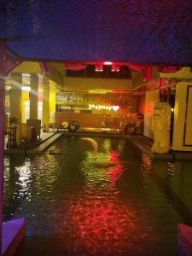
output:
{"label": "dark blue and purple canopy ceiling across the top", "polygon": [[0,39],[23,60],[191,66],[191,13],[183,0],[2,0]]}

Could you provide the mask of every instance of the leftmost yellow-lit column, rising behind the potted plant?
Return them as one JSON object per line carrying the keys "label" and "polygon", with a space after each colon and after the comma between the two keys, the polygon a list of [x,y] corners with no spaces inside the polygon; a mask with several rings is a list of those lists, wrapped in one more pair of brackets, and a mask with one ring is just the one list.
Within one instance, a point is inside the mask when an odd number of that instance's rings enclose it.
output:
{"label": "leftmost yellow-lit column, rising behind the potted plant", "polygon": [[22,73],[15,73],[10,78],[10,117],[18,119],[16,142],[20,144],[20,124],[22,119]]}

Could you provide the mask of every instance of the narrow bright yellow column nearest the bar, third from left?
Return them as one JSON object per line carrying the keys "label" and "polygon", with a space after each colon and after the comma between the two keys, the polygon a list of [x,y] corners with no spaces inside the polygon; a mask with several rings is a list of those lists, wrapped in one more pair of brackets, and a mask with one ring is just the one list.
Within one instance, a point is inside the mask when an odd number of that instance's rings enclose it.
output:
{"label": "narrow bright yellow column nearest the bar, third from left", "polygon": [[49,79],[45,77],[43,89],[43,131],[49,131]]}

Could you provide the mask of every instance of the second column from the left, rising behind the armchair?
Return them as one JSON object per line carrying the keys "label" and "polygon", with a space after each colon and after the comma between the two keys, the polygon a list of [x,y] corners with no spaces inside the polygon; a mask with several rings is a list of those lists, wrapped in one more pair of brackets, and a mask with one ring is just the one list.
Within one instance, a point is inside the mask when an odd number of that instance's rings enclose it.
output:
{"label": "second column from the left, rising behind the armchair", "polygon": [[30,101],[30,119],[38,119],[38,74],[31,74],[31,82],[30,82],[30,93],[29,93],[29,101]]}

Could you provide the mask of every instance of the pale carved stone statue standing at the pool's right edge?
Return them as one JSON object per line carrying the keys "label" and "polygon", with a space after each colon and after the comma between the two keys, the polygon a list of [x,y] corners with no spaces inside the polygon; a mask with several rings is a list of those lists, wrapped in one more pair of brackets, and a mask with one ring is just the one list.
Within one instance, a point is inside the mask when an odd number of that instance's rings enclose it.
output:
{"label": "pale carved stone statue standing at the pool's right edge", "polygon": [[152,119],[152,130],[154,131],[154,144],[151,152],[166,154],[170,147],[170,124],[171,107],[166,102],[156,102]]}

